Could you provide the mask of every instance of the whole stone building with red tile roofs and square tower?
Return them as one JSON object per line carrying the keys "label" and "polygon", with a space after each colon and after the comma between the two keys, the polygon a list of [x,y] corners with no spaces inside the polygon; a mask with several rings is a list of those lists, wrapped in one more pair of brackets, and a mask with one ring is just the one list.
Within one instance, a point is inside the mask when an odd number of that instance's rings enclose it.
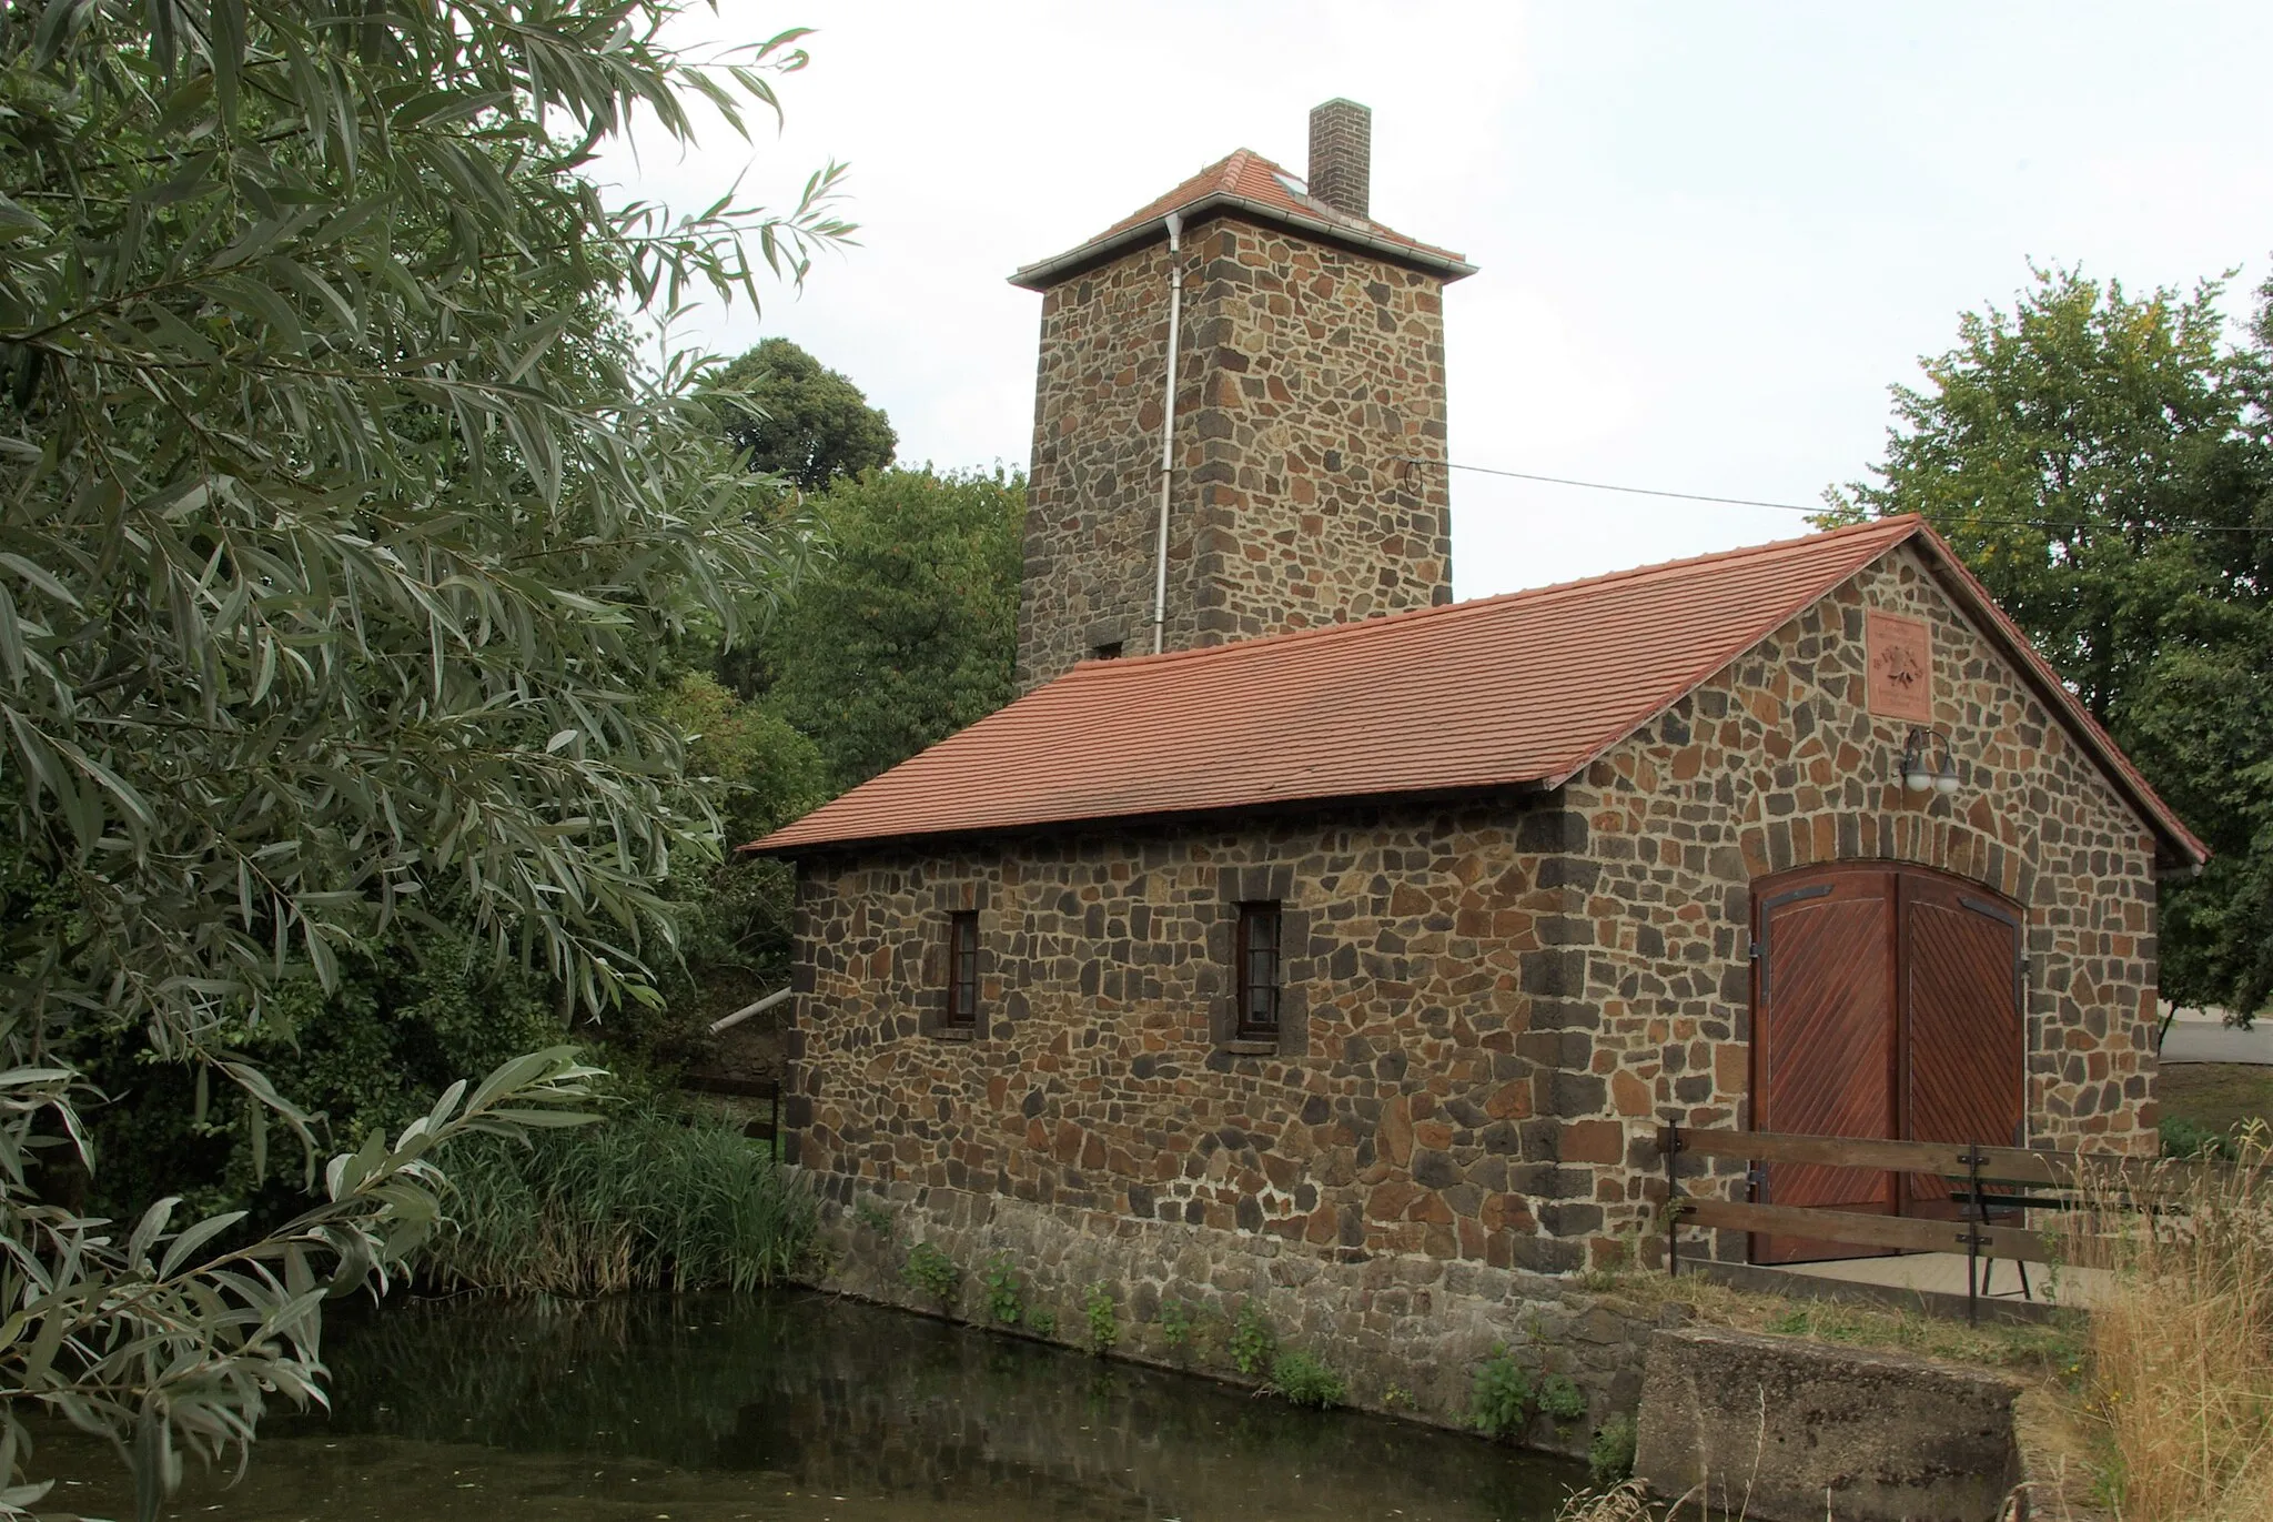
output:
{"label": "whole stone building with red tile roofs and square tower", "polygon": [[[1298,187],[1234,155],[1021,273],[1036,685],[755,844],[798,862],[796,1163],[1139,1306],[1241,1283],[1450,1358],[1457,1404],[1518,1306],[1600,1326],[1552,1276],[1646,1226],[1664,1122],[2150,1147],[2155,878],[2203,846],[1941,539],[1448,603],[1441,471],[1398,464],[1441,457],[1466,266]],[[1216,421],[1132,657],[1177,207]],[[1946,1208],[1818,1174],[1764,1188]]]}

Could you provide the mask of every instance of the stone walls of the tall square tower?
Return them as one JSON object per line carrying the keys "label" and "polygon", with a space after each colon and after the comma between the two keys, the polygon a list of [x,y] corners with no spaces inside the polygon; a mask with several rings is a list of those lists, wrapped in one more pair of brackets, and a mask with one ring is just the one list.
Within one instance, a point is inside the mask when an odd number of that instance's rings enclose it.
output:
{"label": "stone walls of the tall square tower", "polygon": [[[1434,275],[1237,218],[1184,237],[1166,648],[1452,596]],[[1168,248],[1043,293],[1018,683],[1152,648]]]}

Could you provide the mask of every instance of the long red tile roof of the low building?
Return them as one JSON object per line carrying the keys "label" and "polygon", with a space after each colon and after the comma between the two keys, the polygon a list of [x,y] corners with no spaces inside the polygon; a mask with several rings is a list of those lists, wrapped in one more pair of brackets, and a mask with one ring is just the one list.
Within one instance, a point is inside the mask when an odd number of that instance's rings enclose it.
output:
{"label": "long red tile roof of the low building", "polygon": [[2207,851],[1914,516],[1473,603],[1082,662],[746,849],[1289,801],[1559,787],[1893,546],[2068,721],[2173,865]]}

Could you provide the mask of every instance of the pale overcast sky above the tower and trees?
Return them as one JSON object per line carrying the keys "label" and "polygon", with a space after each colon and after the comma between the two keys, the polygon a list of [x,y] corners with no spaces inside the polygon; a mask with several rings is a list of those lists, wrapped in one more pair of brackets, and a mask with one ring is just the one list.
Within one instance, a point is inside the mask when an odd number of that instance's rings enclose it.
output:
{"label": "pale overcast sky above the tower and trees", "polygon": [[[764,314],[891,414],[902,464],[1025,464],[1041,298],[1005,284],[1205,164],[1302,173],[1309,107],[1373,107],[1373,214],[1464,253],[1452,460],[1816,503],[1887,387],[2030,262],[2132,289],[2273,253],[2273,5],[752,5],[811,25],[786,130],[641,139],[605,175],[709,205],[848,162],[859,246]],[[743,30],[746,27],[746,30]],[[1459,596],[1805,532],[1791,512],[1455,475]]]}

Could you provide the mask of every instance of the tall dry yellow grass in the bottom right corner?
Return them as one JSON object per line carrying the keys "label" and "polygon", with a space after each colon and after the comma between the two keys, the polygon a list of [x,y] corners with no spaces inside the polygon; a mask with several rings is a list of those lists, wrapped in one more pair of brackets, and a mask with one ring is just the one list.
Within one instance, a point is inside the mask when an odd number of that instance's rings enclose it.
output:
{"label": "tall dry yellow grass in the bottom right corner", "polygon": [[2268,1147],[2250,1126],[2241,1163],[2205,1169],[2171,1213],[2075,1217],[2075,1260],[2116,1272],[2091,1315],[2082,1404],[2121,1522],[2273,1517]]}

